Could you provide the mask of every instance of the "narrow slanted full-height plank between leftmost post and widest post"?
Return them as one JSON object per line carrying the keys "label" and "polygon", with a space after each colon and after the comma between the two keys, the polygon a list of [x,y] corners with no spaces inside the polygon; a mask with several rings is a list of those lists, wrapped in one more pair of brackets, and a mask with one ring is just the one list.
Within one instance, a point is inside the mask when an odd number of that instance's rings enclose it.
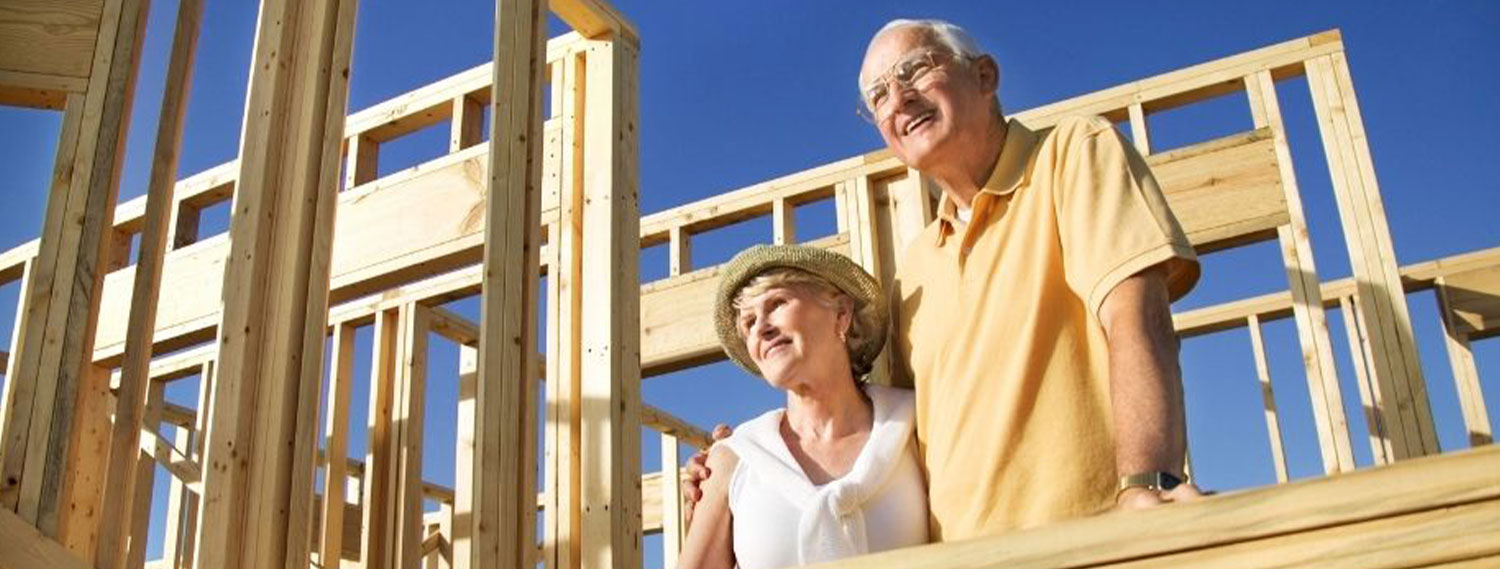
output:
{"label": "narrow slanted full-height plank between leftmost post and widest post", "polygon": [[[188,116],[188,95],[192,87],[192,66],[198,50],[198,30],[202,21],[201,0],[182,0],[177,6],[177,27],[172,32],[172,48],[166,65],[166,87],[162,92],[162,108],[156,123],[156,147],[152,155],[152,173],[147,183],[146,212],[141,227],[141,251],[135,263],[135,279],[130,291],[130,311],[126,317],[124,362],[120,366],[120,384],[116,387],[114,422],[110,432],[110,458],[105,462],[104,498],[99,504],[99,542],[94,551],[94,566],[135,566],[134,557],[144,561],[144,527],[140,536],[128,536],[128,522],[148,519],[150,476],[154,470],[138,467],[141,462],[138,435],[147,404],[150,383],[152,345],[156,332],[156,305],[160,296],[162,263],[166,254],[166,231],[172,215],[177,186],[177,161],[183,140],[183,122]],[[156,407],[160,407],[158,402]],[[147,422],[147,425],[152,425]],[[136,476],[147,476],[144,495],[136,489]],[[135,492],[132,495],[132,492]],[[136,522],[140,525],[141,522]],[[126,554],[129,537],[130,555]],[[140,539],[136,539],[140,537]]]}

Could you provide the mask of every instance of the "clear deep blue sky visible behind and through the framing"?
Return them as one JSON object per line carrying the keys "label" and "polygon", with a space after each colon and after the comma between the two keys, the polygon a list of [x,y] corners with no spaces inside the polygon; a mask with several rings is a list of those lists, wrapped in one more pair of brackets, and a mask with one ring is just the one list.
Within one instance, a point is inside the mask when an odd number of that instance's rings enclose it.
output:
{"label": "clear deep blue sky visible behind and through the framing", "polygon": [[[144,192],[174,2],[156,3],[128,144],[122,197]],[[255,3],[208,2],[183,176],[232,159],[254,39]],[[640,204],[644,213],[806,170],[880,146],[854,114],[854,77],[866,41],[897,17],[938,17],[968,27],[1000,60],[1000,96],[1018,111],[1269,44],[1341,29],[1376,171],[1402,264],[1500,245],[1500,5],[1494,2],[1260,3],[660,3],[621,0],[640,30]],[[364,2],[351,71],[350,108],[360,110],[490,57],[492,3]],[[1280,87],[1294,162],[1324,279],[1350,273],[1336,209],[1320,159],[1306,86]],[[1242,96],[1154,117],[1154,146],[1170,149],[1250,128]],[[40,228],[58,114],[0,110],[0,249]],[[442,150],[430,131],[387,146],[381,173]],[[800,219],[804,236],[831,231],[830,209]],[[770,240],[770,224],[694,243],[699,266]],[[642,278],[666,273],[663,251],[642,257]],[[1198,288],[1176,308],[1286,288],[1280,254],[1258,245],[1209,257]],[[9,330],[16,285],[0,287]],[[1431,294],[1410,299],[1424,371],[1444,449],[1462,447],[1462,423]],[[458,306],[470,311],[472,303]],[[1360,464],[1364,443],[1341,320],[1330,314],[1346,407]],[[1293,326],[1266,329],[1293,477],[1322,473]],[[364,335],[368,342],[368,332]],[[1500,342],[1476,344],[1492,414],[1500,414]],[[429,416],[450,416],[456,350],[435,342]],[[362,363],[362,366],[364,366]],[[1245,330],[1190,341],[1184,350],[1191,444],[1200,482],[1234,489],[1275,480]],[[440,380],[442,378],[442,380]],[[190,384],[172,398],[192,402]],[[698,425],[735,423],[774,407],[777,393],[729,365],[646,381],[645,399]],[[357,390],[356,398],[364,395]],[[364,399],[352,405],[363,423]],[[429,420],[429,437],[452,425]],[[646,470],[657,443],[642,440]],[[362,449],[363,434],[354,446]],[[428,476],[448,483],[452,453],[432,450]],[[656,545],[648,543],[648,566]]]}

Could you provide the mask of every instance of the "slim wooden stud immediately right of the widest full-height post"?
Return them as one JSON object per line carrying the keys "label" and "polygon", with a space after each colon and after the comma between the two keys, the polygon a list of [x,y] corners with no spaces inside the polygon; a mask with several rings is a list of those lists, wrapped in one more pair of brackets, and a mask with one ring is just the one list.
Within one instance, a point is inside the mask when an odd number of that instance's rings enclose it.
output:
{"label": "slim wooden stud immediately right of the widest full-height post", "polygon": [[328,366],[328,407],[324,422],[322,527],[318,537],[318,558],[324,566],[338,566],[344,551],[344,503],[346,501],[350,455],[350,390],[354,383],[354,326],[333,326],[333,360]]}

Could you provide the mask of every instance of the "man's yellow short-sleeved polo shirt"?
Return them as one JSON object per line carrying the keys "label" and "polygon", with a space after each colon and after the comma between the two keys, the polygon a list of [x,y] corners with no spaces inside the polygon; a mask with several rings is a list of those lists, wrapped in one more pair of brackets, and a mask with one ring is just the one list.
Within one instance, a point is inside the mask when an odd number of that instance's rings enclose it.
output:
{"label": "man's yellow short-sleeved polo shirt", "polygon": [[1113,506],[1108,351],[1098,311],[1197,258],[1140,155],[1104,119],[1046,134],[1010,122],[963,224],[944,200],[897,273],[896,381],[916,389],[934,539],[1035,527]]}

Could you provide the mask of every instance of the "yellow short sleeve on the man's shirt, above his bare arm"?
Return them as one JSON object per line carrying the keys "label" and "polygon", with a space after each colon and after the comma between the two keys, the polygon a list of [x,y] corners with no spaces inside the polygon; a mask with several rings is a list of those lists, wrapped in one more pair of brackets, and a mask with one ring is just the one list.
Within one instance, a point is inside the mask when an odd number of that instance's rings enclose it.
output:
{"label": "yellow short sleeve on the man's shirt, above his bare arm", "polygon": [[1100,315],[1120,281],[1167,264],[1172,300],[1198,279],[1198,261],[1146,161],[1102,117],[1058,125],[1066,149],[1053,200],[1068,285]]}

